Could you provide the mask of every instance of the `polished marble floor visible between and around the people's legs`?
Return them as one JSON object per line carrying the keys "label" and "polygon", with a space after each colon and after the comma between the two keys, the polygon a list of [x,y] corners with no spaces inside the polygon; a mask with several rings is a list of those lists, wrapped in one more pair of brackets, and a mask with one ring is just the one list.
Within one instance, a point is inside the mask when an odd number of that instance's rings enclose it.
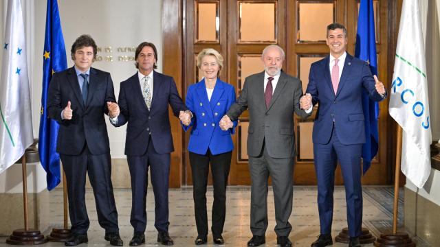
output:
{"label": "polished marble floor visible between and around the people's legs", "polygon": [[[393,219],[393,188],[392,187],[363,187],[364,196],[364,217],[363,227],[375,236],[381,232],[390,231]],[[290,239],[294,246],[310,246],[319,235],[318,207],[316,206],[316,187],[295,186],[294,187],[294,209],[289,222],[293,226]],[[403,222],[403,193],[399,193],[399,223]],[[208,209],[212,207],[212,189],[208,189]],[[63,222],[63,191],[55,189],[50,192],[51,223],[53,226],[61,226]],[[89,246],[109,246],[104,241],[104,230],[100,228],[96,217],[96,207],[91,190],[87,191],[87,211],[91,225],[89,228]],[[124,240],[124,246],[128,246],[133,228],[131,228],[131,191],[129,189],[115,189],[115,200],[118,208],[118,220],[120,234]],[[173,237],[175,246],[195,246],[194,239],[197,236],[194,220],[194,209],[192,202],[192,188],[170,189],[170,236]],[[267,197],[269,226],[266,232],[266,244],[263,246],[277,246],[276,235],[273,231],[274,219],[274,198],[272,189]],[[225,246],[246,246],[252,237],[250,232],[250,187],[228,187],[227,194],[227,215],[223,237]],[[148,190],[147,197],[148,225],[146,229],[146,246],[160,246],[156,242],[157,232],[154,224],[154,198],[153,191]],[[208,211],[208,218],[210,217]],[[209,222],[210,224],[210,222]],[[333,237],[338,235],[340,229],[347,227],[346,206],[344,187],[336,187],[334,193],[334,214],[333,214]],[[417,246],[429,246],[421,239],[414,237]],[[5,246],[5,238],[0,238],[0,246]],[[47,243],[43,246],[63,246],[60,243]],[[84,246],[84,245],[83,245]],[[212,235],[208,236],[208,244],[212,243]],[[333,246],[348,246],[347,244],[335,243]],[[373,246],[365,244],[364,246]]]}

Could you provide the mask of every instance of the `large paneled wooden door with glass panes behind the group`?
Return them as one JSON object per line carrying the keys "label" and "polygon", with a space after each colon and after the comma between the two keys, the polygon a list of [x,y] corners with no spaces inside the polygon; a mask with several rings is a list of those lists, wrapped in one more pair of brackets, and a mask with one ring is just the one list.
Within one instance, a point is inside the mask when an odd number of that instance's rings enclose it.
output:
{"label": "large paneled wooden door with glass panes behind the group", "polygon": [[[246,76],[263,71],[261,52],[270,44],[281,46],[286,53],[283,71],[294,75],[303,82],[305,91],[308,83],[309,67],[312,62],[327,56],[329,49],[325,43],[326,27],[338,22],[347,27],[348,52],[354,54],[355,27],[360,0],[203,0],[184,1],[183,19],[183,94],[198,81],[195,63],[201,49],[217,49],[225,61],[221,79],[232,84],[237,96]],[[376,19],[376,39],[379,78],[385,84],[388,67],[388,1],[374,1]],[[166,48],[165,48],[166,49]],[[263,99],[262,99],[263,100]],[[386,127],[388,109],[386,102],[380,104],[380,150],[369,172],[364,176],[365,184],[384,184],[386,167]],[[314,110],[316,112],[316,109]],[[311,130],[314,116],[306,120],[295,118],[296,161],[294,183],[314,185],[313,143]],[[246,141],[249,115],[245,111],[239,118],[239,126],[234,134],[234,151],[230,170],[230,185],[250,185]],[[186,143],[184,143],[184,184],[190,185],[190,165]],[[342,184],[338,169],[336,183]]]}

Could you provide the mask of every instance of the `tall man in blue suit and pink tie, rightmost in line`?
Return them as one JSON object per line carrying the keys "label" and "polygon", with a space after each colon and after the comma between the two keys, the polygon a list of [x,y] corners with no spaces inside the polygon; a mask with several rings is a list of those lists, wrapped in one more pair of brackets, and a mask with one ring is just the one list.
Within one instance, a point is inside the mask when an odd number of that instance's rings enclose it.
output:
{"label": "tall man in blue suit and pink tie, rightmost in line", "polygon": [[362,224],[361,165],[362,144],[365,142],[362,90],[370,99],[386,97],[384,84],[371,75],[369,64],[347,54],[347,30],[338,23],[327,26],[330,55],[311,64],[306,95],[300,104],[310,109],[318,104],[314,122],[313,142],[320,236],[313,247],[333,244],[333,188],[336,162],[344,178],[349,224],[349,246],[360,246]]}

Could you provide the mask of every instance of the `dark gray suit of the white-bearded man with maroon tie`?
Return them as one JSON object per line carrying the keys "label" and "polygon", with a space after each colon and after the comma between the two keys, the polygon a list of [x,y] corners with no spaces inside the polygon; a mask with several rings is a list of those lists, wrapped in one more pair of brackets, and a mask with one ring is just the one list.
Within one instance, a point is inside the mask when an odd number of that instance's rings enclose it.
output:
{"label": "dark gray suit of the white-bearded man with maroon tie", "polygon": [[293,169],[295,135],[293,114],[308,117],[300,109],[303,95],[300,80],[281,72],[268,108],[264,97],[265,71],[245,79],[241,95],[228,110],[232,121],[246,109],[249,110],[248,130],[249,168],[251,187],[251,231],[265,235],[267,228],[267,180],[272,177],[274,189],[275,232],[278,237],[292,231],[289,217],[292,213]]}

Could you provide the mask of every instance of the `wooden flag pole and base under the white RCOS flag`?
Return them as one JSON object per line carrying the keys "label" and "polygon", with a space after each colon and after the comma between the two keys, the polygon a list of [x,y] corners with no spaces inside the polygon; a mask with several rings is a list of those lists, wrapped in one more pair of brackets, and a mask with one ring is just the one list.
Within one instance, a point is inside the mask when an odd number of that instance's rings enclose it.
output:
{"label": "wooden flag pole and base under the white RCOS flag", "polygon": [[399,124],[397,124],[397,149],[396,149],[396,170],[394,178],[394,205],[393,205],[393,232],[392,233],[381,233],[380,237],[373,243],[376,247],[414,247],[415,242],[412,242],[408,233],[397,231],[397,212],[399,210],[399,176],[400,176],[400,165],[401,165],[401,135],[402,129]]}

